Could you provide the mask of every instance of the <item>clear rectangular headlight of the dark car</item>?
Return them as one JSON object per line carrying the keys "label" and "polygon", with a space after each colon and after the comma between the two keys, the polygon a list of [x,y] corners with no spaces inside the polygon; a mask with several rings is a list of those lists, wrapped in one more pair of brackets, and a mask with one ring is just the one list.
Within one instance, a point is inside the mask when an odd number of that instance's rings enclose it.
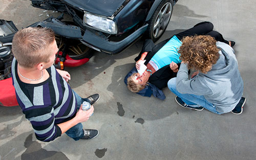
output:
{"label": "clear rectangular headlight of the dark car", "polygon": [[113,20],[88,12],[84,12],[83,25],[105,33],[117,34],[117,27]]}

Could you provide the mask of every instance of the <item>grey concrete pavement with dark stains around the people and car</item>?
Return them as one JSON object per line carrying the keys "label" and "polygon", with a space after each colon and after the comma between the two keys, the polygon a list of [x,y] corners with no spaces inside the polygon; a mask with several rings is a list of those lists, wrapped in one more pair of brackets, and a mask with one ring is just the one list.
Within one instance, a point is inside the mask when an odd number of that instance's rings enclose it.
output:
{"label": "grey concrete pavement with dark stains around the people and car", "polygon": [[[13,20],[18,29],[52,12],[33,8],[27,0],[2,0],[1,5],[0,18]],[[206,20],[226,39],[236,41],[234,51],[247,98],[241,115],[183,108],[168,88],[163,89],[164,101],[129,92],[123,78],[142,48],[139,40],[115,56],[95,52],[88,63],[66,68],[79,95],[101,95],[94,115],[83,123],[99,130],[97,138],[75,142],[63,134],[53,142],[39,142],[19,107],[1,107],[0,160],[256,159],[255,6],[253,0],[180,0],[159,40]]]}

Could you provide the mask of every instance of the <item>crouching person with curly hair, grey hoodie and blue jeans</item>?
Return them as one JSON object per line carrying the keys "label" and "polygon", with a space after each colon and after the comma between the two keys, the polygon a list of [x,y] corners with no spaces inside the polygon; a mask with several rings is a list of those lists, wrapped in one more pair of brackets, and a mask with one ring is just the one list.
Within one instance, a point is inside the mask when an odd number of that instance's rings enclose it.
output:
{"label": "crouching person with curly hair, grey hoodie and blue jeans", "polygon": [[[182,40],[179,53],[182,62],[177,78],[168,82],[178,104],[217,114],[242,113],[246,101],[242,97],[243,80],[229,45],[211,36],[191,36]],[[197,72],[188,79],[191,68]]]}

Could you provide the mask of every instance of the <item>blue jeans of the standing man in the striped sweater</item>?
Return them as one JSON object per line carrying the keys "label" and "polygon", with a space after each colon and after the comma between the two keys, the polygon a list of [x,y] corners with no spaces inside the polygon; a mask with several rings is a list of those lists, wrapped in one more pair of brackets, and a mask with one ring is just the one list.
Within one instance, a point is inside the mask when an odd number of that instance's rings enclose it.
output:
{"label": "blue jeans of the standing man in the striped sweater", "polygon": [[[83,101],[90,102],[87,98],[81,98],[77,93],[75,93],[75,91],[73,89],[72,89],[72,91],[76,98],[77,109],[80,108]],[[67,130],[66,134],[68,136],[70,136],[72,139],[74,139],[75,141],[78,141],[83,137],[83,129],[82,128],[83,128],[82,124],[78,123],[77,125],[71,127],[69,130]]]}

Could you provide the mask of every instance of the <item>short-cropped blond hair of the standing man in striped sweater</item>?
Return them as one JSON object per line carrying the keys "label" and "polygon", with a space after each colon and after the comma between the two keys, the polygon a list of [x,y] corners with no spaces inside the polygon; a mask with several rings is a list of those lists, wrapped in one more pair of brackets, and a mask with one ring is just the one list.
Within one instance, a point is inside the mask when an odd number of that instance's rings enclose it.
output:
{"label": "short-cropped blond hair of the standing man in striped sweater", "polygon": [[49,62],[49,45],[55,40],[52,29],[25,28],[19,30],[12,40],[12,52],[19,65],[32,68],[41,62]]}

